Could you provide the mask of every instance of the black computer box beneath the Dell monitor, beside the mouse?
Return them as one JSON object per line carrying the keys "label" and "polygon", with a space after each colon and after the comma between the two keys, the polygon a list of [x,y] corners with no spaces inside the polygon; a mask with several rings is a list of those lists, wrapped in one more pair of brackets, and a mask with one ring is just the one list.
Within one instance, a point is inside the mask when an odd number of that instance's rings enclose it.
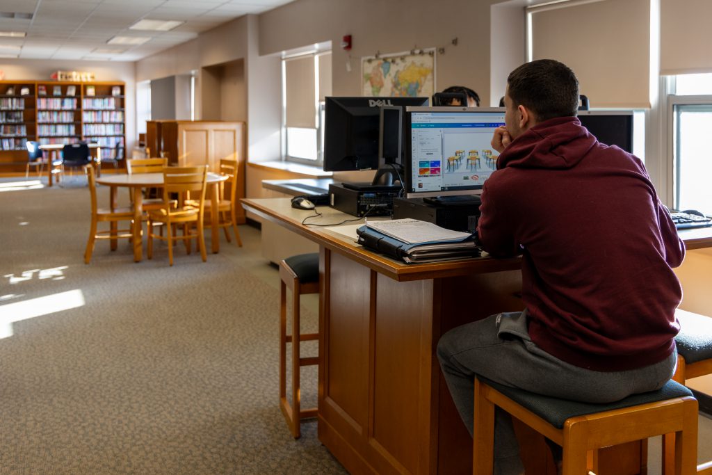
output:
{"label": "black computer box beneath the Dell monitor, beside the mouse", "polygon": [[401,191],[402,187],[332,183],[329,185],[329,199],[332,208],[352,216],[390,216],[393,199]]}

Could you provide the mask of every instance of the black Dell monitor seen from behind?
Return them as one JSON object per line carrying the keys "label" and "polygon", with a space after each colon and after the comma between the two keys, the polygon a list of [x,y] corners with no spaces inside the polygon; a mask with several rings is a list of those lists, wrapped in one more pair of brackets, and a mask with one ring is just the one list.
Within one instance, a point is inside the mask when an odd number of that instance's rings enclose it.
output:
{"label": "black Dell monitor seen from behind", "polygon": [[325,98],[324,170],[379,167],[379,108],[428,105],[428,98]]}

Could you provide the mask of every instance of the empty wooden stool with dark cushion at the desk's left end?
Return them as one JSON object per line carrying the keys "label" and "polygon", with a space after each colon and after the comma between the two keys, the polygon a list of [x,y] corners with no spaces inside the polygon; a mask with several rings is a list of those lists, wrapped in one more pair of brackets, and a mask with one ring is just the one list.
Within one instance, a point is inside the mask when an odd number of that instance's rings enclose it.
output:
{"label": "empty wooden stool with dark cushion at the desk's left end", "polygon": [[[300,331],[300,296],[307,293],[319,293],[319,254],[299,254],[284,259],[279,263],[281,278],[280,321],[279,321],[279,406],[282,409],[292,436],[301,435],[301,419],[316,417],[317,409],[300,408],[300,367],[318,365],[319,358],[301,357],[299,343],[318,340],[318,333]],[[292,291],[292,334],[287,335],[287,288]],[[292,403],[287,400],[287,343],[292,343]]]}

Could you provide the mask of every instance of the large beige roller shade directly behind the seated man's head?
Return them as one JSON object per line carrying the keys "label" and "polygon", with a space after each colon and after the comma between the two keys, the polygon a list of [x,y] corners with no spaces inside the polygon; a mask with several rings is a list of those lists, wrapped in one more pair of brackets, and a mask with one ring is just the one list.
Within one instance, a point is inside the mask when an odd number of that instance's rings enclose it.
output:
{"label": "large beige roller shade directly behind the seated man's head", "polygon": [[592,108],[648,108],[650,1],[530,7],[532,58],[572,68]]}

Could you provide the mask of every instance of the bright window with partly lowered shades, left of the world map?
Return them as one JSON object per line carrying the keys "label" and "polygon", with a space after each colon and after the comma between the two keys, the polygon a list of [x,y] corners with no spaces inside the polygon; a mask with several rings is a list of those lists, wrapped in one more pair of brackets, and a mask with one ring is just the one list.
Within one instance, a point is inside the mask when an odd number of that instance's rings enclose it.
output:
{"label": "bright window with partly lowered shades, left of the world map", "polygon": [[324,97],[331,94],[331,53],[284,58],[284,160],[323,163]]}

